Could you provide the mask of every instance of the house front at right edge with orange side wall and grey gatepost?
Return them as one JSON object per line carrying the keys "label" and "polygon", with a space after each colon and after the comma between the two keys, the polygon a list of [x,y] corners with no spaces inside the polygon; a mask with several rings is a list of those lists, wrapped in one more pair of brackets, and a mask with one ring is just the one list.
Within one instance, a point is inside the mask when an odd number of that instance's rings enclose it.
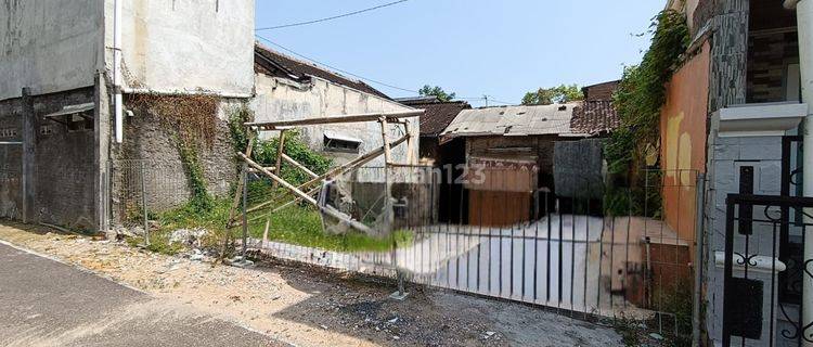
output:
{"label": "house front at right edge with orange side wall and grey gatepost", "polygon": [[[687,222],[696,216],[679,211],[693,210],[681,206],[695,203],[681,197],[700,188],[664,192],[664,218],[694,241],[704,265],[699,293],[706,309],[698,330],[710,344],[811,344],[813,311],[803,312],[802,303],[813,292],[813,277],[799,264],[813,255],[803,252],[801,217],[771,205],[801,196],[810,183],[800,170],[813,163],[802,154],[813,142],[802,126],[810,113],[802,103],[804,72],[812,67],[809,8],[810,1],[668,3],[686,15],[692,42],[661,110],[664,185],[681,185],[694,177],[688,172],[705,175],[706,208],[697,230]],[[766,201],[743,207],[732,194]],[[745,217],[749,208],[752,219]],[[758,222],[773,214],[780,216],[769,218],[775,229]]]}

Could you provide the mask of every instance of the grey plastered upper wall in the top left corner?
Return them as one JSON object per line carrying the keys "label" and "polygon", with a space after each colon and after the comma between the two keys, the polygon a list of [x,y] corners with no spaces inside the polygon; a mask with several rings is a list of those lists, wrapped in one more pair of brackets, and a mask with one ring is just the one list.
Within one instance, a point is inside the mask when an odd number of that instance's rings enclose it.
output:
{"label": "grey plastered upper wall in the top left corner", "polygon": [[101,64],[100,0],[0,0],[0,100],[93,86]]}

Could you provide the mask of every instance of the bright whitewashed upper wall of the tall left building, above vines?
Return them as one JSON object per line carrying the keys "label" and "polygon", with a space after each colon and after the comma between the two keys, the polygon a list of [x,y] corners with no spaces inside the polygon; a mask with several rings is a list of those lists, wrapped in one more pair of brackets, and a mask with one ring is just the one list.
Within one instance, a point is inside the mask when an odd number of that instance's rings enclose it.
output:
{"label": "bright whitewashed upper wall of the tall left building, above vines", "polygon": [[[126,87],[249,97],[254,0],[121,0]],[[114,1],[105,1],[113,47]],[[107,52],[107,68],[112,53]]]}

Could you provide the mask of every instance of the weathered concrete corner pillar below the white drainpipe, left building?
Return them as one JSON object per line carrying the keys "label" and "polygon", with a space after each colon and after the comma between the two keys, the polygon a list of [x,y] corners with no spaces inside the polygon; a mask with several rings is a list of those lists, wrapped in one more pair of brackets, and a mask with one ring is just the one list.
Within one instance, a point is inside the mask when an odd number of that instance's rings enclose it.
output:
{"label": "weathered concrete corner pillar below the white drainpipe, left building", "polygon": [[94,165],[93,170],[93,195],[95,224],[99,232],[109,229],[109,196],[111,196],[111,102],[107,90],[107,80],[104,73],[96,74],[95,108],[93,112],[93,142]]}

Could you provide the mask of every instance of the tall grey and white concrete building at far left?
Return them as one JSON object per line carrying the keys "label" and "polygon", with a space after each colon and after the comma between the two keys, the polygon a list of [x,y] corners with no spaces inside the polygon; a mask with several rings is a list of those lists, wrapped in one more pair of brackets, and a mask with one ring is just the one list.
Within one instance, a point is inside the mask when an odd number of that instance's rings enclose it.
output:
{"label": "tall grey and white concrete building at far left", "polygon": [[3,2],[2,217],[106,230],[116,162],[178,158],[131,95],[253,95],[253,0]]}

